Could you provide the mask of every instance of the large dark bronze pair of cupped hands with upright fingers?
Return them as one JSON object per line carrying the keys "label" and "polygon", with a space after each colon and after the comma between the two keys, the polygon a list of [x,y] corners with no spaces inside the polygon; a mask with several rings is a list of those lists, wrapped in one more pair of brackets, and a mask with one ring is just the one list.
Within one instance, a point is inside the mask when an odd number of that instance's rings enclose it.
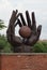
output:
{"label": "large dark bronze pair of cupped hands with upright fingers", "polygon": [[[20,16],[21,22],[18,18],[19,16]],[[26,11],[26,18],[27,18],[28,27],[32,30],[32,33],[29,38],[21,39],[20,37],[17,37],[15,34],[15,27],[17,25],[19,25],[19,27],[27,26],[22,13],[18,13],[17,10],[16,12],[13,11],[13,14],[10,19],[10,25],[6,31],[7,41],[13,45],[13,48],[14,48],[13,51],[17,53],[18,52],[29,52],[30,53],[31,52],[30,47],[32,47],[40,39],[42,26],[40,25],[36,28],[34,12],[32,12],[32,24],[31,24],[31,19],[30,19],[28,11]]]}

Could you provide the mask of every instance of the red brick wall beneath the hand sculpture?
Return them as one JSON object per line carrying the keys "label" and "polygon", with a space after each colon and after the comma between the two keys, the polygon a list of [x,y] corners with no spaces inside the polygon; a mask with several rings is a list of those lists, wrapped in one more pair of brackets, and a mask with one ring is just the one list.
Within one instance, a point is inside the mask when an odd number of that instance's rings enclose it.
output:
{"label": "red brick wall beneath the hand sculpture", "polygon": [[1,55],[1,70],[47,70],[47,55]]}

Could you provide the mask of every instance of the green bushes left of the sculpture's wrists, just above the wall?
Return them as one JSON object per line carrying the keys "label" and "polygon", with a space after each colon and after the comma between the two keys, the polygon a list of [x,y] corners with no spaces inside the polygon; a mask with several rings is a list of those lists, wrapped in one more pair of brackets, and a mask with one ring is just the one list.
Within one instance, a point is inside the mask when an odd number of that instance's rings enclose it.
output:
{"label": "green bushes left of the sculpture's wrists, just above the wall", "polygon": [[0,36],[0,52],[1,53],[13,52],[11,44],[7,42],[6,37],[4,36]]}

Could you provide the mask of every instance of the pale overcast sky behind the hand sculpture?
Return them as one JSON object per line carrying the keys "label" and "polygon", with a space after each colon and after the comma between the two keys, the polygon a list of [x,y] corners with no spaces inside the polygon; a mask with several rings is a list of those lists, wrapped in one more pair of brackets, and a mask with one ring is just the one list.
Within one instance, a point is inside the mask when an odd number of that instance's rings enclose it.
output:
{"label": "pale overcast sky behind the hand sculpture", "polygon": [[[36,26],[42,25],[42,33],[40,39],[47,39],[47,0],[0,0],[0,19],[3,19],[5,25],[9,26],[9,20],[13,10],[24,13],[29,11],[35,13]],[[31,16],[30,16],[31,17]],[[26,18],[26,17],[25,17]],[[19,27],[16,28],[18,34]],[[6,34],[6,28],[1,30],[0,33]]]}

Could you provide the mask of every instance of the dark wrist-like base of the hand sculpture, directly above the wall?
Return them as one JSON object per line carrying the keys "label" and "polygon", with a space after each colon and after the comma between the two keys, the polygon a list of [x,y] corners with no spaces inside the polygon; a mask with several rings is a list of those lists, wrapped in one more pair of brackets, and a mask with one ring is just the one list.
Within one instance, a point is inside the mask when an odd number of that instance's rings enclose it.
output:
{"label": "dark wrist-like base of the hand sculpture, directly above the wall", "polygon": [[33,53],[33,46],[29,45],[21,45],[21,46],[14,46],[14,53]]}

